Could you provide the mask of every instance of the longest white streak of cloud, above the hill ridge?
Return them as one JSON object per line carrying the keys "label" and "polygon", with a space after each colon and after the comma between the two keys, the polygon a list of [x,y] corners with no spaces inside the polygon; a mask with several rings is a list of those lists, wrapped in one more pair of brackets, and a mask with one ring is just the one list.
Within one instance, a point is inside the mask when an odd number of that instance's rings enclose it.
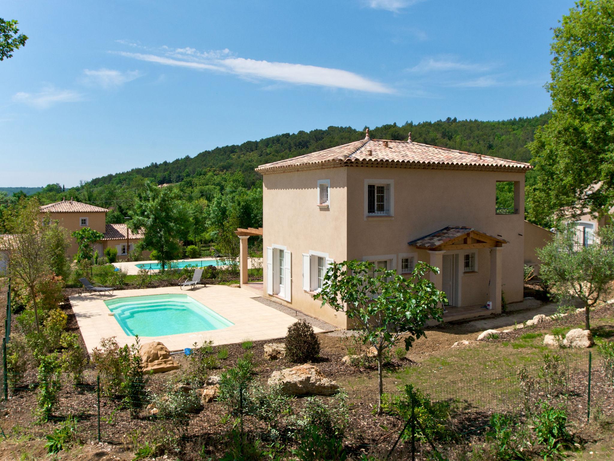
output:
{"label": "longest white streak of cloud, above the hill ridge", "polygon": [[166,66],[229,73],[246,79],[266,79],[295,85],[317,85],[370,93],[394,93],[394,90],[387,85],[342,69],[238,58],[228,49],[198,52],[189,47],[181,49],[163,47],[157,53],[120,51],[117,54]]}

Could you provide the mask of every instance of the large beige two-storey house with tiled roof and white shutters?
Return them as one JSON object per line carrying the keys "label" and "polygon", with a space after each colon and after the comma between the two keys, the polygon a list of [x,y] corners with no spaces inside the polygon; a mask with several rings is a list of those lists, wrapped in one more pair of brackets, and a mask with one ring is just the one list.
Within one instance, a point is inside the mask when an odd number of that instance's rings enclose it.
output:
{"label": "large beige two-storey house with tiled roof and white shutters", "polygon": [[[445,320],[500,313],[523,301],[524,175],[513,160],[408,141],[360,141],[260,165],[264,296],[341,328],[313,295],[333,261],[410,274],[418,261],[445,291]],[[496,208],[496,185],[513,208]],[[491,302],[492,310],[483,308]]]}

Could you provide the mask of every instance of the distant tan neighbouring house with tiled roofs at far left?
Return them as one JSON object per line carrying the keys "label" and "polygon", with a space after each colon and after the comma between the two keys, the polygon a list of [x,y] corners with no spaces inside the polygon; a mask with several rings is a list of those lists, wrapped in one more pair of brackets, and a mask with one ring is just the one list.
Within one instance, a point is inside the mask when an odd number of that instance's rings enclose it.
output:
{"label": "distant tan neighbouring house with tiled roofs at far left", "polygon": [[[74,200],[62,200],[61,202],[42,205],[41,218],[49,214],[49,218],[58,221],[60,226],[67,229],[70,233],[84,227],[98,230],[104,234],[104,238],[93,245],[93,249],[102,256],[106,248],[117,249],[117,258],[128,258],[128,252],[134,250],[134,245],[138,243],[144,235],[142,231],[131,232],[126,224],[106,224],[107,208],[94,207],[87,203],[75,202]],[[74,237],[70,237],[71,246],[66,250],[66,255],[72,258],[77,253],[77,242]],[[149,256],[149,251],[145,251],[145,256]]]}

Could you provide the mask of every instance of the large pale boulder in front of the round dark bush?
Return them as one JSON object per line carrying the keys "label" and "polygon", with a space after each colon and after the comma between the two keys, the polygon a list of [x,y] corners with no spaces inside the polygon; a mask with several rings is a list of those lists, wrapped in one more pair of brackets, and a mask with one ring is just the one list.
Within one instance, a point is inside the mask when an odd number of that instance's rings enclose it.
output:
{"label": "large pale boulder in front of the round dark bush", "polygon": [[274,371],[268,384],[280,386],[287,395],[333,395],[339,388],[334,380],[308,364]]}

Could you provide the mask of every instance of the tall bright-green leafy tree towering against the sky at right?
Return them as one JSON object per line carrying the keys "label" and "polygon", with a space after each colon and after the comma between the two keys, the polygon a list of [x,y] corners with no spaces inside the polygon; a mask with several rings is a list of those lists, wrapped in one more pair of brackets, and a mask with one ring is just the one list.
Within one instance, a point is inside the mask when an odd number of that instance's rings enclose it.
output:
{"label": "tall bright-green leafy tree towering against the sky at right", "polygon": [[530,219],[614,205],[614,1],[581,0],[554,28],[552,118],[529,145],[537,184]]}

